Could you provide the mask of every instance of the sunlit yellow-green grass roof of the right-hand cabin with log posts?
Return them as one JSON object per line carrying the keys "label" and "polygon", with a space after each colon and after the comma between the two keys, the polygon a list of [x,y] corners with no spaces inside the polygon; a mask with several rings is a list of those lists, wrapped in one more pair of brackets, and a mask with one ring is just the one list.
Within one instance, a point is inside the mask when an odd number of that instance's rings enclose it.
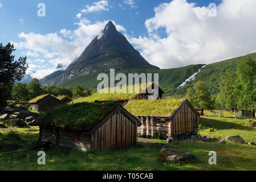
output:
{"label": "sunlit yellow-green grass roof of the right-hand cabin with log posts", "polygon": [[171,115],[184,99],[133,100],[124,108],[133,115]]}

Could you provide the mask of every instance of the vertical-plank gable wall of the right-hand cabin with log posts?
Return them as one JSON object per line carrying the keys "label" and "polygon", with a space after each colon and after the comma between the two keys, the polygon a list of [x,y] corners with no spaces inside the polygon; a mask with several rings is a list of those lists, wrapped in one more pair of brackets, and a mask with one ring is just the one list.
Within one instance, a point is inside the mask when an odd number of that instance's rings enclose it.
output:
{"label": "vertical-plank gable wall of the right-hand cabin with log posts", "polygon": [[184,104],[171,120],[169,135],[180,135],[198,128],[198,116],[188,104]]}

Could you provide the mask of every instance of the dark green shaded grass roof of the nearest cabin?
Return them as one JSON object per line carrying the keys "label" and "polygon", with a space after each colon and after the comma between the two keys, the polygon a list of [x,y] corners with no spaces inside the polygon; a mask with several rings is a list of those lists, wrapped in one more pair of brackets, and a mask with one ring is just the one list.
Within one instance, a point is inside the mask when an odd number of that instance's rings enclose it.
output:
{"label": "dark green shaded grass roof of the nearest cabin", "polygon": [[118,105],[115,102],[62,105],[47,110],[38,121],[47,126],[90,131]]}

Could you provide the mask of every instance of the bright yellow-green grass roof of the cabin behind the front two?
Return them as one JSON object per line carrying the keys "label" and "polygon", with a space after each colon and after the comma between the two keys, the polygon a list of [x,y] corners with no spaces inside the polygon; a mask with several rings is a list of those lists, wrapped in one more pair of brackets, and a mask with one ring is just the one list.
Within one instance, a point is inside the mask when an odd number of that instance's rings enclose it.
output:
{"label": "bright yellow-green grass roof of the cabin behind the front two", "polygon": [[[110,93],[110,88],[108,88],[108,93],[95,92],[89,97],[77,98],[73,103],[79,102],[94,102],[94,101],[112,101],[112,100],[133,100],[137,99],[137,96],[141,94],[148,86],[151,84],[139,84],[139,93],[128,93],[129,85],[127,85],[127,93]],[[136,85],[137,86],[137,85]],[[118,87],[116,87],[118,88]],[[132,85],[133,91],[135,90],[135,85]],[[121,87],[120,87],[121,89]],[[104,91],[104,89],[102,89]],[[115,89],[116,90],[116,89]]]}

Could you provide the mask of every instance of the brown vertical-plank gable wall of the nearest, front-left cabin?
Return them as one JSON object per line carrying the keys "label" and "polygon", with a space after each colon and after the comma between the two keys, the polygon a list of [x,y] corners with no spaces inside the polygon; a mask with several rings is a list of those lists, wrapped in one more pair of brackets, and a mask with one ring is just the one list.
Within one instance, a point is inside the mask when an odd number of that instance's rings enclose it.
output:
{"label": "brown vertical-plank gable wall of the nearest, front-left cabin", "polygon": [[94,148],[127,148],[137,144],[137,125],[125,115],[117,113],[92,134]]}

